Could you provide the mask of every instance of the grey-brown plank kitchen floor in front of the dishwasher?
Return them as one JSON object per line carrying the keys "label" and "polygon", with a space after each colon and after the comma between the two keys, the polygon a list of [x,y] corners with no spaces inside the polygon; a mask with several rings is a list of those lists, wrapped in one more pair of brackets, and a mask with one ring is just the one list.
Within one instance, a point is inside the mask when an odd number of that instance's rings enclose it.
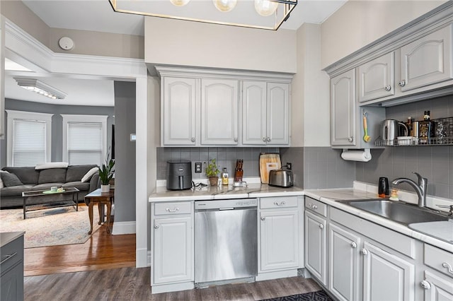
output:
{"label": "grey-brown plank kitchen floor in front of the dishwasher", "polygon": [[149,268],[108,270],[25,277],[25,300],[263,300],[320,290],[311,279],[282,278],[256,283],[151,295]]}

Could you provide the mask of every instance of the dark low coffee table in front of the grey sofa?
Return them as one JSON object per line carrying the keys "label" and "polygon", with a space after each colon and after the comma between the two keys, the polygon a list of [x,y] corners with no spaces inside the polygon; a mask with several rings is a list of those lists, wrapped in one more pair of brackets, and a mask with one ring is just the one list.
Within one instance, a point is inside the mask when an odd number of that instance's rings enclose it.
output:
{"label": "dark low coffee table in front of the grey sofa", "polygon": [[[75,206],[79,211],[79,189],[75,187],[64,187],[64,191],[50,192],[50,190],[23,191],[23,219],[27,211],[41,209]],[[33,204],[30,204],[33,201]]]}

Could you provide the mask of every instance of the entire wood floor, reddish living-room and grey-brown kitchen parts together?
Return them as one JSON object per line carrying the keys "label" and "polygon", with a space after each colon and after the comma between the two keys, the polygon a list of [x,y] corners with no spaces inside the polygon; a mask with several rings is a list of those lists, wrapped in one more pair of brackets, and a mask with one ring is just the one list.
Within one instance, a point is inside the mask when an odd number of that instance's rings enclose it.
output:
{"label": "entire wood floor, reddish living-room and grey-brown kitchen parts together", "polygon": [[25,249],[24,265],[25,300],[263,300],[320,290],[293,277],[151,295],[150,268],[135,268],[135,235],[104,226],[85,244]]}

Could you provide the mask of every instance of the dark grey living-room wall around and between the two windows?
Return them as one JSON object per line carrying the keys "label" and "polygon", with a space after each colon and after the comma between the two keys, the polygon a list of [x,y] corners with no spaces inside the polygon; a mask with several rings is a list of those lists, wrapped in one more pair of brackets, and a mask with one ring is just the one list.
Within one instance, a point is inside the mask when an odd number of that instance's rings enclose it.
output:
{"label": "dark grey living-room wall around and between the two windows", "polygon": [[[83,115],[108,115],[107,119],[107,145],[110,146],[112,137],[113,107],[86,107],[80,105],[49,105],[39,102],[28,102],[23,100],[5,100],[6,110],[25,112],[38,112],[54,114],[52,116],[52,162],[62,161],[63,158],[63,117],[61,114],[83,114]],[[5,138],[0,140],[0,165],[6,166],[6,139],[7,139],[7,116],[5,114]]]}

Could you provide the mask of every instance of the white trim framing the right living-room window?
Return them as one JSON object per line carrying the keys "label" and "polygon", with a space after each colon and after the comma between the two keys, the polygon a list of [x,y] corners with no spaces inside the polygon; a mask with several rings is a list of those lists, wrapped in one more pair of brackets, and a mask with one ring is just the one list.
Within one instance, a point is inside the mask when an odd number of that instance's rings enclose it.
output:
{"label": "white trim framing the right living-room window", "polygon": [[68,158],[68,123],[70,122],[87,122],[102,124],[102,157],[101,162],[105,161],[107,153],[107,118],[108,115],[76,115],[76,114],[61,114],[63,117],[63,161],[69,162]]}

